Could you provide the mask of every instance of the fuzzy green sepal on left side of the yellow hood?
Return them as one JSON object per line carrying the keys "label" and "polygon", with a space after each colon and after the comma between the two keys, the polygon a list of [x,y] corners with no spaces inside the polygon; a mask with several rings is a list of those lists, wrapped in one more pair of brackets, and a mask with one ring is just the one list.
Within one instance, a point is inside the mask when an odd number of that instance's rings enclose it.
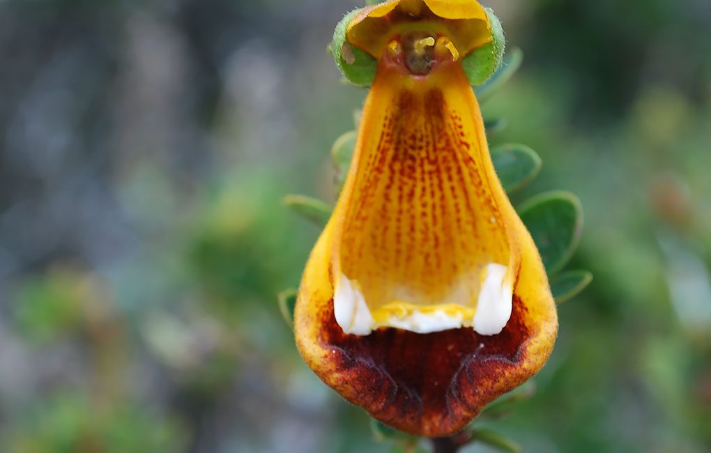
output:
{"label": "fuzzy green sepal on left side of the yellow hood", "polygon": [[375,80],[375,72],[378,70],[378,62],[363,50],[351,45],[346,40],[346,28],[348,23],[360,12],[360,9],[351,11],[338,22],[336,30],[333,31],[333,41],[328,46],[328,53],[331,54],[336,66],[341,70],[343,77],[358,87],[367,87]]}

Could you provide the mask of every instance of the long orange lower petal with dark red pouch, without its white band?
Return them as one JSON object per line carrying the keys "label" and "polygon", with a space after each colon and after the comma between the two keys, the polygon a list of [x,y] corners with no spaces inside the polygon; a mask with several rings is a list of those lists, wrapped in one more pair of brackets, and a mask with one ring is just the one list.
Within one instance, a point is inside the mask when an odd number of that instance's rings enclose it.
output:
{"label": "long orange lower petal with dark red pouch, without its white band", "polygon": [[[488,262],[506,265],[513,289],[498,334],[380,327],[355,335],[336,319],[343,275],[373,315],[390,302],[423,311],[453,302],[456,313],[476,313],[481,284],[471,276]],[[428,437],[460,430],[547,360],[555,303],[494,172],[461,64],[412,77],[387,56],[380,61],[346,185],[304,271],[294,331],[325,383],[378,420]]]}

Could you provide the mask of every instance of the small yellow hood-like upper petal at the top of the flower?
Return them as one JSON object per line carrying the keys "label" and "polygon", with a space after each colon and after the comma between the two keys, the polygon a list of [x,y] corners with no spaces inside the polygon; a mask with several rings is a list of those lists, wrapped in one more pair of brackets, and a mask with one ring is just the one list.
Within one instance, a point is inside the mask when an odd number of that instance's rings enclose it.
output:
{"label": "small yellow hood-like upper petal at the top of the flower", "polygon": [[[458,53],[493,41],[486,11],[476,0],[392,0],[361,10],[348,23],[348,42],[379,59],[393,40],[408,33],[446,37]],[[419,71],[413,71],[419,73]]]}

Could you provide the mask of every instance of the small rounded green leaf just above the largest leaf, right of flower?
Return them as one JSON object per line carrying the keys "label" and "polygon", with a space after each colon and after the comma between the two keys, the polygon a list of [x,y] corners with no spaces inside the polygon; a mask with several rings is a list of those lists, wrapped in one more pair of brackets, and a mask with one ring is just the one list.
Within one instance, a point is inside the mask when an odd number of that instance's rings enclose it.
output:
{"label": "small rounded green leaf just above the largest leaf, right of flower", "polygon": [[507,192],[527,186],[540,173],[541,160],[523,144],[505,144],[491,149],[496,174]]}

